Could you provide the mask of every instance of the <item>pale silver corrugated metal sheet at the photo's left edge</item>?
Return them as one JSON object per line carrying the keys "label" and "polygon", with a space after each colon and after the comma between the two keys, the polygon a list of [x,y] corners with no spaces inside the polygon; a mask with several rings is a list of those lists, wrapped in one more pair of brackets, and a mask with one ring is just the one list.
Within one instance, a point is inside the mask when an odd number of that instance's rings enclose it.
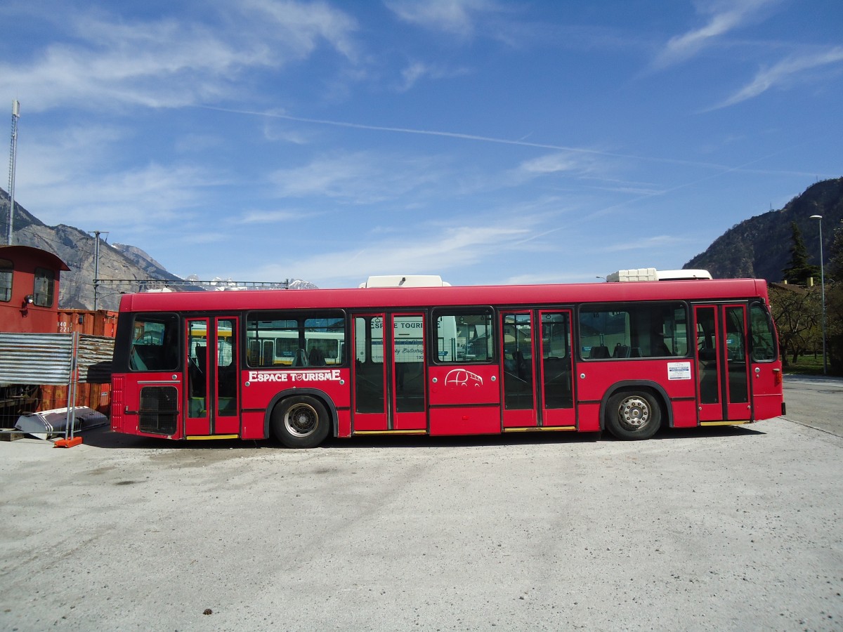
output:
{"label": "pale silver corrugated metal sheet at the photo's left edge", "polygon": [[0,334],[0,382],[67,384],[72,353],[72,335]]}

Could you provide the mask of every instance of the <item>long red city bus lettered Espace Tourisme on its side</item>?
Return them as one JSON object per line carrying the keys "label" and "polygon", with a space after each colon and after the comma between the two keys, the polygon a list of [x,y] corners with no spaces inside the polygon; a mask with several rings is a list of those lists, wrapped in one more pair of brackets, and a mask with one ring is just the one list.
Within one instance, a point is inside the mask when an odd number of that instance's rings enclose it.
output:
{"label": "long red city bus lettered Espace Tourisme on its side", "polygon": [[784,411],[756,279],[127,294],[113,372],[115,431],[287,447]]}

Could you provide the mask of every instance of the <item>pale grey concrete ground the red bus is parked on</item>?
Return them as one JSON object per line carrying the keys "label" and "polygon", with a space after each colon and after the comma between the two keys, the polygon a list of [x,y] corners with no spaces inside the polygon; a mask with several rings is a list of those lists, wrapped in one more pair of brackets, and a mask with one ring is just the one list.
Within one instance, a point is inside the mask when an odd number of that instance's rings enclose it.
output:
{"label": "pale grey concrete ground the red bus is parked on", "polygon": [[0,442],[0,629],[840,630],[843,382],[786,394],[648,442]]}

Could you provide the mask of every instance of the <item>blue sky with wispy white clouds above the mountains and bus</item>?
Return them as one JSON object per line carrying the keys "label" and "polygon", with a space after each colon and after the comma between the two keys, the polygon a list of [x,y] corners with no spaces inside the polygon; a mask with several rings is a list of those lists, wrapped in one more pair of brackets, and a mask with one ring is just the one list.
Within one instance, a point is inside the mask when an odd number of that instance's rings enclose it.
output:
{"label": "blue sky with wispy white clouds above the mountains and bus", "polygon": [[840,0],[5,0],[0,24],[16,201],[179,276],[673,269],[843,175]]}

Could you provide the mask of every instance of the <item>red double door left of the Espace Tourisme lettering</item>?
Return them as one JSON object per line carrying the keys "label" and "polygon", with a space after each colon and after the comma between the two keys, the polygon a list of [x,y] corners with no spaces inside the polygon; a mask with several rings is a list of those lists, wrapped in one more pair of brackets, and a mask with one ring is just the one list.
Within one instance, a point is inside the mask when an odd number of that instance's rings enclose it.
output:
{"label": "red double door left of the Espace Tourisme lettering", "polygon": [[239,435],[235,317],[185,319],[185,436]]}

